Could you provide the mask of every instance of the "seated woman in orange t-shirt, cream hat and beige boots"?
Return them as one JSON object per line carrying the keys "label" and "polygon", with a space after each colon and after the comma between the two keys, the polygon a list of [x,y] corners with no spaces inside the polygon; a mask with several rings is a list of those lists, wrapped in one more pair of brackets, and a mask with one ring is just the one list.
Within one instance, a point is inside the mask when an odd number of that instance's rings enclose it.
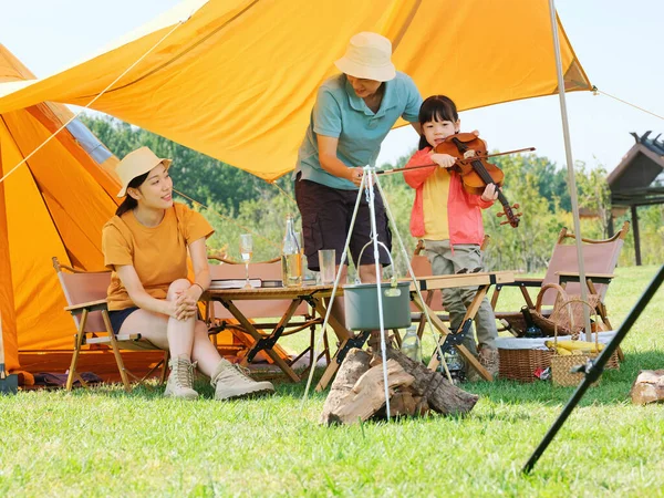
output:
{"label": "seated woman in orange t-shirt, cream hat and beige boots", "polygon": [[[173,201],[170,159],[149,148],[128,154],[117,166],[125,197],[104,226],[104,262],[113,271],[108,310],[113,331],[139,332],[170,351],[165,396],[195,400],[194,369],[211,378],[216,400],[272,393],[224,360],[197,320],[197,301],[210,284],[206,239],[214,232],[198,212]],[[196,278],[187,280],[187,249]]]}

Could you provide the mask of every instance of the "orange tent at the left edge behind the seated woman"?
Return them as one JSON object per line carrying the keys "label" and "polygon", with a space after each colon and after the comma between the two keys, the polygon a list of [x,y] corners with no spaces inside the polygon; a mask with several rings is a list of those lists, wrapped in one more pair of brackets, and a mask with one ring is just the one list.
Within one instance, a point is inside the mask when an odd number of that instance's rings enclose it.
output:
{"label": "orange tent at the left edge behind the seated woman", "polygon": [[[34,75],[0,44],[0,83]],[[40,103],[0,114],[0,177],[9,173],[72,113]],[[117,158],[81,122],[0,183],[0,313],[8,370],[18,350],[70,350],[74,323],[51,258],[103,269],[101,227],[117,207]]]}

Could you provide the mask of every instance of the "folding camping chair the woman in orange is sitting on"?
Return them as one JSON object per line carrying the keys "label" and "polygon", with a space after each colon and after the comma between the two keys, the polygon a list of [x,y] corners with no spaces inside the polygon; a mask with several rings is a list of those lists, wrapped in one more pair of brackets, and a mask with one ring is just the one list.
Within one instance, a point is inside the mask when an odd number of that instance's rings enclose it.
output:
{"label": "folding camping chair the woman in orange is sitting on", "polygon": [[106,291],[111,283],[111,272],[75,270],[65,264],[61,264],[58,261],[58,258],[53,258],[53,268],[55,268],[55,271],[58,272],[58,279],[60,280],[64,298],[69,304],[65,310],[72,314],[74,324],[76,325],[74,352],[72,354],[72,363],[66,380],[66,390],[71,391],[74,380],[77,380],[81,385],[87,386],[76,371],[79,355],[84,345],[97,349],[110,347],[113,351],[120,376],[126,392],[132,391],[129,376],[138,383],[143,383],[158,367],[162,367],[159,381],[163,384],[166,380],[168,351],[164,352],[164,357],[143,377],[134,375],[124,366],[122,355],[120,354],[121,350],[162,350],[146,339],[143,339],[139,333],[113,333],[111,320],[108,319],[108,305],[106,303]]}

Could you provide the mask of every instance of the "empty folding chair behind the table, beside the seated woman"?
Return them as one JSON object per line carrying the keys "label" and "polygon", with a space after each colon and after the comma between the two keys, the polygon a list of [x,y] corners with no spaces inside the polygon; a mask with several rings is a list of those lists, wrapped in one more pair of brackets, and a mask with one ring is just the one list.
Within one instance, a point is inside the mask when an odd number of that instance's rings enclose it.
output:
{"label": "empty folding chair behind the table, beside the seated woman", "polygon": [[[212,280],[245,280],[245,263],[225,259],[219,256],[208,255],[208,259],[214,259],[220,262],[220,264],[210,264],[210,276]],[[281,260],[272,259],[269,261],[249,263],[249,276],[250,279],[260,280],[281,280]],[[283,351],[277,343],[272,345],[272,349],[280,354],[289,366],[292,366],[298,360],[304,356],[307,353],[310,354],[309,370],[312,365],[321,359],[325,357],[326,363],[330,363],[330,346],[328,342],[328,334],[323,331],[323,351],[313,359],[313,351],[315,344],[315,325],[322,323],[320,318],[315,318],[310,311],[309,307],[302,302],[295,309],[293,318],[286,323],[283,330],[277,331],[278,322],[270,319],[279,319],[283,317],[289,307],[291,305],[290,300],[242,300],[235,303],[237,308],[247,317],[253,324],[253,326],[262,333],[266,331],[266,339],[273,336],[276,340],[282,336],[292,335],[309,329],[310,341],[308,347],[300,352],[297,356],[290,359],[289,355]],[[221,305],[221,303],[214,301],[206,305],[206,322],[208,323],[210,334],[216,334],[224,330],[230,331],[234,336],[240,341],[247,347],[246,359],[247,362],[252,361],[255,355],[260,351],[260,345],[257,344],[253,338],[246,333],[245,329],[235,317]],[[278,336],[274,333],[278,333]],[[271,359],[267,356],[268,362]]]}

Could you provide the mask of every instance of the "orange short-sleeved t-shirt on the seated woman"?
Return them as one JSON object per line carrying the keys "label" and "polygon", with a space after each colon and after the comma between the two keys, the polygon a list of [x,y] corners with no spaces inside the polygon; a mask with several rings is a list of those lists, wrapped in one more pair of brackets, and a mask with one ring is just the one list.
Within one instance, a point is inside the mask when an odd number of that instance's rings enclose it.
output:
{"label": "orange short-sleeved t-shirt on the seated woman", "polygon": [[132,264],[145,291],[166,299],[168,287],[187,278],[187,247],[214,234],[199,212],[174,203],[156,227],[141,225],[133,211],[114,216],[102,231],[104,264],[112,270],[108,286],[108,310],[135,307],[117,277],[116,267]]}

